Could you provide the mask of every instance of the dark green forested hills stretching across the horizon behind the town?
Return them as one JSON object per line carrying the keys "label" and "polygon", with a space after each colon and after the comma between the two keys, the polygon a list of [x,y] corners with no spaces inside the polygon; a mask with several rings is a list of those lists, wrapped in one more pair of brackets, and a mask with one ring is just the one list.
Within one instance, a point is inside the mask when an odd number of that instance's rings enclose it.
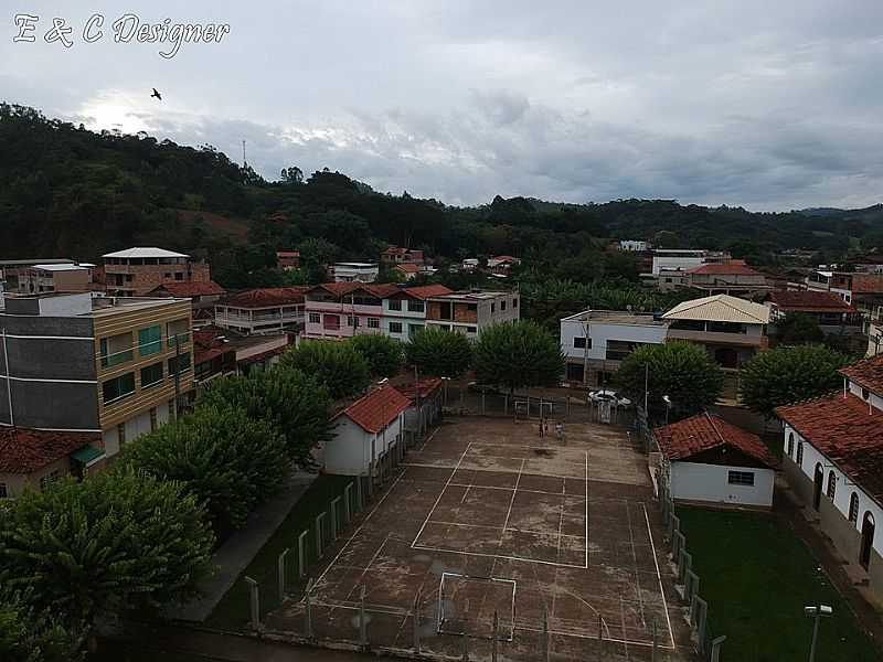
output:
{"label": "dark green forested hills stretching across the horizon behind the town", "polygon": [[883,246],[880,205],[767,214],[668,200],[581,205],[498,196],[450,207],[375,193],[328,170],[304,178],[292,167],[267,182],[210,146],[95,134],[10,105],[0,105],[0,258],[85,260],[160,245],[211,258],[231,286],[272,266],[276,248],[298,246],[316,259],[374,257],[389,243],[451,259],[513,254],[565,278],[568,264],[582,277],[585,269],[600,276],[597,258],[610,238],[731,248],[754,261],[780,248],[833,256]]}

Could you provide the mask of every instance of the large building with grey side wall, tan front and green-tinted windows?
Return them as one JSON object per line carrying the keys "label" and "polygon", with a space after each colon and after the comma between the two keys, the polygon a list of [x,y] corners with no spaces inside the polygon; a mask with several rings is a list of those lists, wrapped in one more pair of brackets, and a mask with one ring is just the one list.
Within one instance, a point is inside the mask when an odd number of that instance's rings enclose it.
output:
{"label": "large building with grey side wall, tan front and green-tinted windows", "polygon": [[0,426],[95,434],[115,456],[191,389],[191,327],[188,300],[7,296]]}

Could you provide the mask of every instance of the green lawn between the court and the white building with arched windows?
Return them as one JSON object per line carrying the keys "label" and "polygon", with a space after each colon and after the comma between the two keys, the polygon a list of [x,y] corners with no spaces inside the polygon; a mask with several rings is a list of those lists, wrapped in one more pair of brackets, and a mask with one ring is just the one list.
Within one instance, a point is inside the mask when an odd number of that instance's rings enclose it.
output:
{"label": "green lawn between the court and the white building with arched windows", "polygon": [[775,516],[682,506],[678,515],[711,634],[727,638],[722,662],[807,660],[812,620],[804,606],[816,602],[834,610],[820,624],[817,660],[881,659],[809,548]]}

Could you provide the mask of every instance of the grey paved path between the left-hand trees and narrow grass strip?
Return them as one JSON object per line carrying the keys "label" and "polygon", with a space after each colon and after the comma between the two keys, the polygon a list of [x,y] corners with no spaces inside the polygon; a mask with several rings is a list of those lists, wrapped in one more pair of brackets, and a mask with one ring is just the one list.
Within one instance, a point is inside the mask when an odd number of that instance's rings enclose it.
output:
{"label": "grey paved path between the left-hand trees and narrow grass strip", "polygon": [[278,496],[252,513],[245,527],[217,548],[212,557],[217,573],[200,587],[204,597],[183,608],[171,610],[167,616],[178,620],[205,621],[316,478],[316,473],[299,472],[291,476]]}

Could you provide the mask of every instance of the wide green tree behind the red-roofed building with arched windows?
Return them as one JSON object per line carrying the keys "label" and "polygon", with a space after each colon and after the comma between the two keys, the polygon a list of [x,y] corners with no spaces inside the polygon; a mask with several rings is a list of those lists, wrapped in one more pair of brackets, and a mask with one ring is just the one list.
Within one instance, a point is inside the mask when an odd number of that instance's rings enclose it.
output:
{"label": "wide green tree behind the red-roofed building with arched windows", "polygon": [[760,352],[740,375],[740,398],[753,412],[773,417],[781,405],[817,397],[840,387],[838,370],[847,357],[823,345],[804,344]]}

